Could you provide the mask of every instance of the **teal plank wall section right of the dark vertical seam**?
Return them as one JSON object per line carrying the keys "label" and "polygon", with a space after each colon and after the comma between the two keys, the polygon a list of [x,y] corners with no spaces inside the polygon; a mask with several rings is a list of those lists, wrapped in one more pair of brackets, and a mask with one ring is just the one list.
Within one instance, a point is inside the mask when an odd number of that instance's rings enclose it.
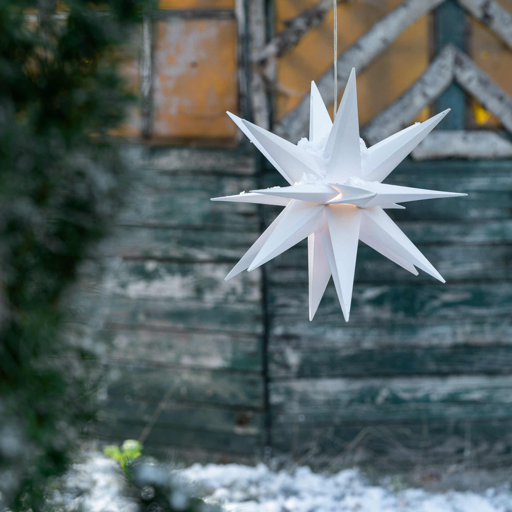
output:
{"label": "teal plank wall section right of the dark vertical seam", "polygon": [[332,282],[308,321],[304,242],[267,264],[276,453],[395,468],[510,462],[511,169],[404,161],[388,183],[469,194],[388,211],[447,282],[360,244],[348,324]]}

